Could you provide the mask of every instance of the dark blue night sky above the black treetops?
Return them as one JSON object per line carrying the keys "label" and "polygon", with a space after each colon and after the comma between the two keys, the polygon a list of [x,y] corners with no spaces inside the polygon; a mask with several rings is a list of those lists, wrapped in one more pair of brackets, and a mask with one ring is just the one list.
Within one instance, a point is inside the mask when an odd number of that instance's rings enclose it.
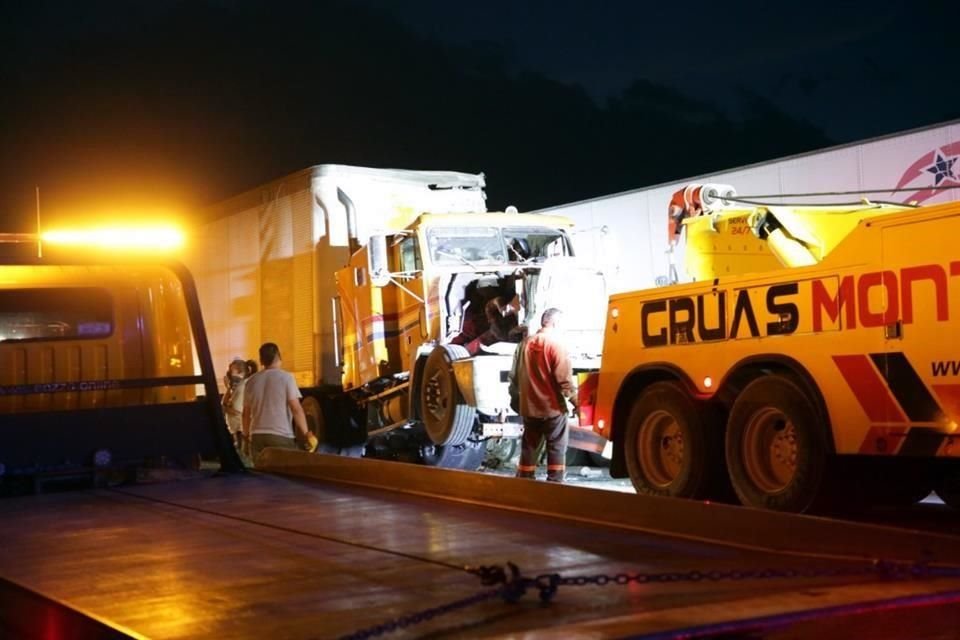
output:
{"label": "dark blue night sky above the black treetops", "polygon": [[843,141],[960,113],[955,3],[365,2],[441,41],[496,43],[599,100],[645,78],[735,112],[745,88]]}

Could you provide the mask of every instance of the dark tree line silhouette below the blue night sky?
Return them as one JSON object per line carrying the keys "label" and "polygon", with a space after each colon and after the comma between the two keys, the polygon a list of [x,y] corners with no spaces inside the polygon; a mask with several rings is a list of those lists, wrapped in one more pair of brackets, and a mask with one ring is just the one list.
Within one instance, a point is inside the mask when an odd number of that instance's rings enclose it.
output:
{"label": "dark tree line silhouette below the blue night sky", "polygon": [[598,104],[510,71],[497,47],[444,45],[349,2],[191,0],[41,29],[54,9],[0,26],[0,215],[35,182],[200,206],[319,163],[484,171],[492,208],[533,209],[830,143],[746,90],[736,118],[643,79]]}

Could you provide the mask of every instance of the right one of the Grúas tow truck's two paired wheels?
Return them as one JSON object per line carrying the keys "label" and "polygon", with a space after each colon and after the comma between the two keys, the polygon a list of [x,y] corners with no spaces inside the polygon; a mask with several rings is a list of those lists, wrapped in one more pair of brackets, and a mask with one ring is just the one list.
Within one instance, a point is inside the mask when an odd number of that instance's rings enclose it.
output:
{"label": "right one of the Gr\u00faas tow truck's two paired wheels", "polygon": [[826,452],[813,404],[790,378],[757,378],[734,401],[727,422],[727,470],[744,505],[810,510],[826,476]]}

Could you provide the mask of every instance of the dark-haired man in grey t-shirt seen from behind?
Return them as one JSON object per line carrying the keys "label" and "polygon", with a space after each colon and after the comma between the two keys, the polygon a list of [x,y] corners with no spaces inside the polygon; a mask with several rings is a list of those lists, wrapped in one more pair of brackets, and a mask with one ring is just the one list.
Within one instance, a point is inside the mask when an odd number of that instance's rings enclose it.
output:
{"label": "dark-haired man in grey t-shirt seen from behind", "polygon": [[280,348],[273,342],[260,345],[263,370],[247,380],[243,392],[243,436],[250,443],[250,456],[267,447],[307,451],[317,448],[317,438],[307,429],[300,405],[300,389],[293,375],[284,371]]}

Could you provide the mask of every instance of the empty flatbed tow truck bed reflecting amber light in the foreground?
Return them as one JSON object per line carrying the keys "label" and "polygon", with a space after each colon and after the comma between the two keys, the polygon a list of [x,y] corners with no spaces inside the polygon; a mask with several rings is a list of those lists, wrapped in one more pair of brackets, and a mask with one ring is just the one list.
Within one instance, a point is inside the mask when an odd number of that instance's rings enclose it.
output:
{"label": "empty flatbed tow truck bed reflecting amber light in the foreground", "polygon": [[[2,500],[0,636],[917,638],[960,628],[960,578],[929,575],[960,565],[955,538],[399,464],[271,451],[274,473]],[[529,577],[652,577],[563,582],[542,604],[532,583],[506,602],[503,585],[464,570],[507,562]],[[376,628],[390,621],[396,629]]]}

